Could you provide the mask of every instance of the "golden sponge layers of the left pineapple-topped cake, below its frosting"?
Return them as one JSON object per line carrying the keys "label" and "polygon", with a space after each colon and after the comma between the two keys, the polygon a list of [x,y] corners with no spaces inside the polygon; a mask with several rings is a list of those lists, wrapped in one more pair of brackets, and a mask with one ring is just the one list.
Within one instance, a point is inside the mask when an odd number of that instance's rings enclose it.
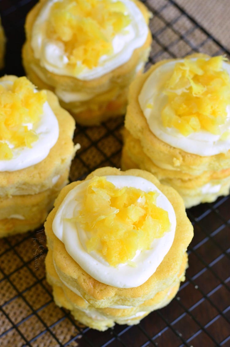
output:
{"label": "golden sponge layers of the left pineapple-topped cake, below its frosting", "polygon": [[[16,76],[5,76],[0,82],[14,83],[16,80]],[[40,162],[21,168],[23,161],[28,159],[23,157],[18,161],[19,168],[15,165],[9,171],[1,170],[0,237],[39,227],[52,209],[59,191],[68,183],[71,160],[78,148],[74,147],[72,141],[75,122],[69,113],[60,107],[57,97],[50,91],[47,91],[47,101],[61,132],[48,155]],[[47,133],[48,129],[43,131]],[[49,142],[50,138],[45,143],[46,147],[49,147]],[[28,150],[33,153],[33,148]],[[39,151],[47,153],[46,148],[41,147]],[[36,154],[33,160],[36,162]],[[11,159],[1,161],[8,166],[10,162]]]}

